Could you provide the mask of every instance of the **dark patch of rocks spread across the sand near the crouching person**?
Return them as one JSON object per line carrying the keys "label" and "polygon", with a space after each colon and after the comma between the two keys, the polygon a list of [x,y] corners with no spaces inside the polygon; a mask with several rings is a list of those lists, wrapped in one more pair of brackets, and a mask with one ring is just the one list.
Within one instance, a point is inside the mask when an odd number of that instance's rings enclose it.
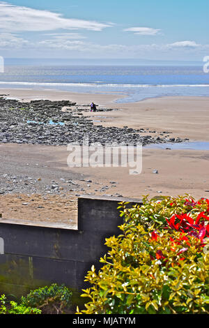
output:
{"label": "dark patch of rocks spread across the sand near the crouching person", "polygon": [[[167,140],[164,137],[167,131],[162,133],[162,138],[156,138],[150,135],[142,136],[140,133],[156,133],[148,129],[145,131],[144,128],[95,126],[91,117],[80,115],[83,110],[86,110],[84,106],[68,100],[31,100],[30,103],[24,103],[24,110],[21,110],[23,105],[18,100],[2,98],[0,103],[0,142],[3,143],[67,145],[76,142],[82,144],[84,135],[88,135],[89,144],[100,142],[102,145],[105,145],[105,142],[146,145]],[[10,107],[13,108],[13,115],[11,115]],[[63,107],[68,107],[68,112],[63,112]],[[112,109],[100,108],[100,110]],[[79,111],[78,114],[76,114],[77,111]],[[56,124],[49,124],[49,121]],[[183,141],[180,138],[171,140]]]}

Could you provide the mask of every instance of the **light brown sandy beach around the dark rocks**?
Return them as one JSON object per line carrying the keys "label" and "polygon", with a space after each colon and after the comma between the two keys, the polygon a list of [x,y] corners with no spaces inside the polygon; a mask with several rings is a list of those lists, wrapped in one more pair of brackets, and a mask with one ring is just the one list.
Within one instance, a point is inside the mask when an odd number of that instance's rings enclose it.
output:
{"label": "light brown sandy beach around the dark rocks", "polygon": [[[138,103],[115,103],[121,95],[70,94],[66,91],[1,89],[0,94],[18,98],[23,102],[33,99],[72,100],[79,104],[92,101],[100,106],[118,109],[111,112],[84,112],[93,117],[94,124],[104,126],[128,126],[147,128],[159,135],[168,131],[172,137],[191,141],[209,141],[209,98],[164,97],[149,98]],[[102,117],[101,117],[102,116]],[[150,133],[147,133],[150,134]],[[143,195],[190,195],[208,197],[208,151],[183,149],[143,148],[142,172],[128,174],[128,167],[68,167],[68,151],[65,146],[38,144],[0,144],[0,174],[27,172],[34,179],[73,179],[79,181],[83,191],[79,195],[123,195],[141,198]],[[20,156],[21,154],[21,156]],[[30,164],[31,163],[31,164]],[[36,163],[36,167],[34,167]],[[29,165],[27,165],[29,164]],[[26,166],[27,165],[27,166]],[[40,167],[45,167],[40,169]],[[153,174],[157,170],[158,174]],[[50,177],[50,178],[49,178]],[[88,183],[87,181],[91,181]],[[87,187],[88,185],[88,187]],[[100,186],[100,188],[98,188]],[[103,188],[101,191],[101,186]],[[65,187],[63,186],[65,191]],[[64,195],[0,195],[0,213],[3,218],[76,223],[78,192],[65,191]],[[31,199],[33,199],[31,201]],[[35,200],[35,202],[34,202]],[[23,203],[27,203],[24,205]]]}

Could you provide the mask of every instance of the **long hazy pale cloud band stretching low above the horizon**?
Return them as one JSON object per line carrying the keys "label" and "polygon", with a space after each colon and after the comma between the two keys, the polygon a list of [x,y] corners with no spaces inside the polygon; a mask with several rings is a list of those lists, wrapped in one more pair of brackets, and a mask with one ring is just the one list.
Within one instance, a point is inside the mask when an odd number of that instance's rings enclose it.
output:
{"label": "long hazy pale cloud band stretching low above the horizon", "polygon": [[[188,43],[189,42],[189,43]],[[153,56],[160,59],[166,56],[167,59],[176,53],[180,56],[188,56],[189,54],[206,53],[209,45],[197,45],[193,41],[180,41],[171,44],[116,44],[107,43],[101,45],[98,43],[88,42],[88,39],[83,38],[79,33],[42,33],[41,38],[25,39],[24,36],[19,36],[18,33],[0,33],[0,50],[5,51],[8,57],[13,57],[15,50],[18,53],[26,56],[26,54],[38,54],[45,57],[45,54],[53,54],[56,57],[61,56],[87,56],[87,57],[109,57],[109,58],[150,58]],[[2,54],[2,52],[1,52]],[[5,56],[6,56],[5,55]]]}

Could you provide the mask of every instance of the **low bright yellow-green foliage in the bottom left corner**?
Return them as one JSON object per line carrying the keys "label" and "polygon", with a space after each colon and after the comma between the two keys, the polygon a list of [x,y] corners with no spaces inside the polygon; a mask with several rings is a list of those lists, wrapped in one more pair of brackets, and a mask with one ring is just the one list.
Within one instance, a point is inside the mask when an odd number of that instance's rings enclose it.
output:
{"label": "low bright yellow-green foliage in the bottom left corner", "polygon": [[38,308],[32,308],[30,306],[18,305],[15,301],[10,301],[6,304],[6,296],[0,297],[0,314],[40,314],[41,311]]}

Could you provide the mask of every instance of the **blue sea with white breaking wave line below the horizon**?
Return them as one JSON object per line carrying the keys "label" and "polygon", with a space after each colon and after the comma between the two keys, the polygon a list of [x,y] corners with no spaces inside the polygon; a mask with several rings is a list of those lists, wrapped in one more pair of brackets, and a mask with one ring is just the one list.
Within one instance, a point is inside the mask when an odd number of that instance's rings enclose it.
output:
{"label": "blue sea with white breaking wave line below the horizon", "polygon": [[203,66],[6,65],[0,89],[59,89],[118,94],[116,103],[162,96],[209,96]]}

